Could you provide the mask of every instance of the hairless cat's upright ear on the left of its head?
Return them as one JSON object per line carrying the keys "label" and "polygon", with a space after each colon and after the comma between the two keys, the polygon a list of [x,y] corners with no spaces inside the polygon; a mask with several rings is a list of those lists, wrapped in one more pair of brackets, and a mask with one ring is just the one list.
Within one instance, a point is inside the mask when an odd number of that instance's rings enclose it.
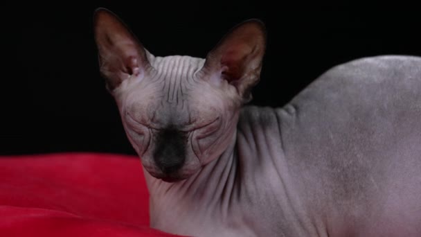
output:
{"label": "hairless cat's upright ear on the left of its head", "polygon": [[113,12],[98,8],[94,13],[94,36],[100,73],[113,90],[130,76],[144,76],[150,69],[147,51]]}

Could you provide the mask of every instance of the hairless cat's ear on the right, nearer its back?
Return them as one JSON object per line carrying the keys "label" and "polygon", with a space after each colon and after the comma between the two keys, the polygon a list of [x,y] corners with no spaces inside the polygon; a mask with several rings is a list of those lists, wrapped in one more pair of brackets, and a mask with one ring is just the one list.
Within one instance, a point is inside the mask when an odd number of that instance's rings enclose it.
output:
{"label": "hairless cat's ear on the right, nearer its back", "polygon": [[235,26],[206,56],[202,71],[236,87],[244,100],[251,100],[251,88],[260,80],[266,48],[265,25],[250,19]]}

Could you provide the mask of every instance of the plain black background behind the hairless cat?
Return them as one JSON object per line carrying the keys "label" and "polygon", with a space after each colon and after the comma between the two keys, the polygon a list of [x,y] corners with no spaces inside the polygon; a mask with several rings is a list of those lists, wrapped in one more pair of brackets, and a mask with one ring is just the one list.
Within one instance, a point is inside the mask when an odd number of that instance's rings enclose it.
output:
{"label": "plain black background behind the hairless cat", "polygon": [[92,28],[98,7],[115,12],[159,56],[204,58],[235,24],[261,19],[268,42],[255,105],[282,106],[349,60],[421,55],[421,17],[404,3],[145,2],[2,3],[0,155],[134,154],[98,71]]}

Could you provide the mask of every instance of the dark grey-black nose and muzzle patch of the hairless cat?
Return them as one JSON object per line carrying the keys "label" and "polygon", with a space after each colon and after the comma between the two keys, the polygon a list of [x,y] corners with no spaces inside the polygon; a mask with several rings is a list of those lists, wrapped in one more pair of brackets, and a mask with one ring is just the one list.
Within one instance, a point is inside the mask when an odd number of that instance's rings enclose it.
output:
{"label": "dark grey-black nose and muzzle patch of the hairless cat", "polygon": [[165,174],[175,173],[186,159],[186,133],[163,129],[156,134],[154,161]]}

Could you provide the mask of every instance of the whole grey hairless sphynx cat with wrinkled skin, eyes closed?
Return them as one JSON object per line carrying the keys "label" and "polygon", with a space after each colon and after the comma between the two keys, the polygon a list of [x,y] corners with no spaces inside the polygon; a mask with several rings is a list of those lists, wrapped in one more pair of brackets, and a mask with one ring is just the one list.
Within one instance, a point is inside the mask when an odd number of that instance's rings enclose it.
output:
{"label": "whole grey hairless sphynx cat with wrinkled skin, eyes closed", "polygon": [[141,157],[151,227],[185,236],[421,236],[421,58],[333,67],[284,107],[245,106],[265,29],[206,59],[155,57],[95,14],[100,72]]}

